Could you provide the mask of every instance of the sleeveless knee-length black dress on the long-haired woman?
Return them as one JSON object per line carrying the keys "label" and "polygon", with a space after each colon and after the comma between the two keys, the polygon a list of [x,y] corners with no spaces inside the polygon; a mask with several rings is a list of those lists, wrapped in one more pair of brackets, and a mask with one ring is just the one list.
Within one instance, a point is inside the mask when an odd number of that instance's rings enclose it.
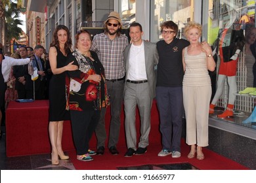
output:
{"label": "sleeveless knee-length black dress on the long-haired woman", "polygon": [[[66,65],[66,56],[57,50],[57,68]],[[70,52],[68,53],[70,54]],[[68,55],[67,54],[67,55]],[[57,122],[62,120],[70,120],[70,114],[66,110],[66,72],[53,75],[49,84],[49,121]]]}

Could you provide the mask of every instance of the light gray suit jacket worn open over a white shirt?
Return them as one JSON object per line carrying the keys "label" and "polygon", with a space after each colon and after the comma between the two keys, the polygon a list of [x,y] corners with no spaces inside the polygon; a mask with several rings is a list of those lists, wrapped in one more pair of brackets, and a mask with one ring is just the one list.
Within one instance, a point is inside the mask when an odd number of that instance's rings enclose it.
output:
{"label": "light gray suit jacket worn open over a white shirt", "polygon": [[[158,64],[158,50],[156,44],[148,41],[144,42],[144,54],[145,54],[145,63],[146,63],[146,76],[148,78],[148,89],[150,90],[150,97],[154,99],[156,96],[156,72],[154,67]],[[124,50],[124,62],[125,62],[125,71],[128,72],[128,61],[129,61],[129,52],[131,44],[126,46]],[[125,75],[125,81],[127,80],[127,75]]]}

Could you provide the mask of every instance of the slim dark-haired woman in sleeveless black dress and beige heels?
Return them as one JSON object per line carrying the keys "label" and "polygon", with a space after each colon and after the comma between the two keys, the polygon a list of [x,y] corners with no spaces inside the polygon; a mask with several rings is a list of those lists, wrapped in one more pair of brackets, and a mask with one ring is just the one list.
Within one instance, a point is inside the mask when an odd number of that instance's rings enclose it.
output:
{"label": "slim dark-haired woman in sleeveless black dress and beige heels", "polygon": [[66,71],[75,71],[76,65],[66,65],[66,58],[71,52],[70,31],[65,25],[58,25],[54,30],[50,44],[49,61],[53,76],[49,84],[49,137],[52,146],[52,164],[58,165],[60,159],[69,159],[62,150],[62,131],[64,120],[70,120],[66,110],[65,78]]}

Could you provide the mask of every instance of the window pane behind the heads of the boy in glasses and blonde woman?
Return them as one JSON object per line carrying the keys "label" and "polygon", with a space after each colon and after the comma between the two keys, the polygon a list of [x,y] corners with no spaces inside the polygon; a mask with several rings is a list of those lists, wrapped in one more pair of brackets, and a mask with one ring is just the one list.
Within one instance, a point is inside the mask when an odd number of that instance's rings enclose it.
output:
{"label": "window pane behind the heads of the boy in glasses and blonde woman", "polygon": [[179,26],[178,38],[184,38],[183,29],[187,22],[193,20],[194,7],[192,1],[182,0],[155,0],[152,8],[151,39],[157,42],[161,39],[160,25],[165,21],[172,20]]}

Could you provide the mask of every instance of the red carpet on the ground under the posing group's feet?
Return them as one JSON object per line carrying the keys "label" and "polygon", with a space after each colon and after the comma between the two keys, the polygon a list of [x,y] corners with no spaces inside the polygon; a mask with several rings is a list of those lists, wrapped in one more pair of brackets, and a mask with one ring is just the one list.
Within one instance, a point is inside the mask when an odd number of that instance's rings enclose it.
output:
{"label": "red carpet on the ground under the posing group's feet", "polygon": [[144,155],[132,156],[125,158],[124,154],[127,150],[125,146],[118,148],[119,155],[113,156],[105,150],[103,156],[93,156],[93,161],[79,161],[76,159],[75,150],[68,152],[70,159],[77,170],[115,170],[117,167],[133,167],[139,165],[160,165],[171,163],[190,163],[200,170],[247,170],[247,167],[232,161],[231,159],[224,158],[211,150],[203,149],[205,159],[202,161],[193,158],[188,159],[186,156],[189,152],[189,146],[184,143],[182,139],[181,158],[171,158],[171,156],[158,157],[158,152],[161,150],[160,144],[150,144],[148,151]]}

